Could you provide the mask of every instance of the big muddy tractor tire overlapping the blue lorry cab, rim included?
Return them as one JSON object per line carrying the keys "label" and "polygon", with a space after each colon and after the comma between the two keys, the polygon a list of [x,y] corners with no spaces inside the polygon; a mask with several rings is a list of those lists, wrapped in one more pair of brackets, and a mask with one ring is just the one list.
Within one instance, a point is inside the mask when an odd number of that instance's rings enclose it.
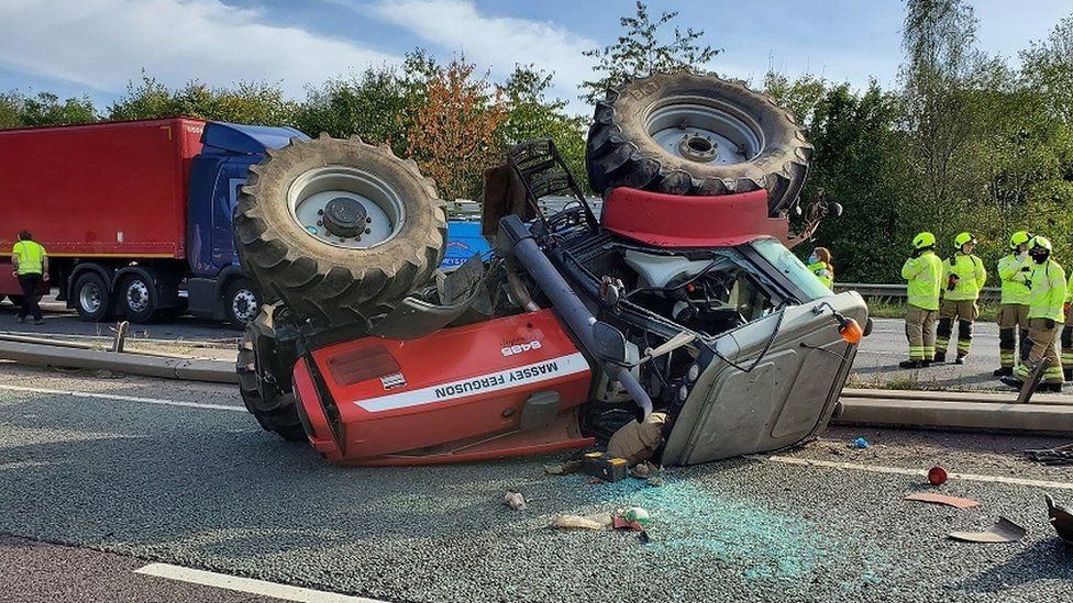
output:
{"label": "big muddy tractor tire overlapping the blue lorry cab, rim included", "polygon": [[445,205],[387,145],[296,137],[250,171],[235,210],[239,257],[265,299],[303,320],[369,326],[443,258]]}

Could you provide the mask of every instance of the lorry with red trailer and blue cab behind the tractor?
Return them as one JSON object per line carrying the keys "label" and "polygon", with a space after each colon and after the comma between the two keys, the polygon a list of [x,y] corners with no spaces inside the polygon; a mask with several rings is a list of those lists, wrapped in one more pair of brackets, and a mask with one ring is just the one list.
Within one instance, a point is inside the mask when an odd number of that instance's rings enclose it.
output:
{"label": "lorry with red trailer and blue cab behind the tractor", "polygon": [[242,326],[258,302],[232,210],[248,166],[292,136],[186,118],[0,131],[0,298],[21,294],[7,265],[26,230],[82,320],[189,310]]}

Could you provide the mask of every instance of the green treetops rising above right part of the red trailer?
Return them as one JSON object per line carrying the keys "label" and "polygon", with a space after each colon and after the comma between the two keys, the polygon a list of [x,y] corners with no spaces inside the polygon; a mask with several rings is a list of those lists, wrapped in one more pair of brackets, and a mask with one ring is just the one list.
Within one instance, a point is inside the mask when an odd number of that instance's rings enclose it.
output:
{"label": "green treetops rising above right part of the red trailer", "polygon": [[131,82],[126,96],[109,108],[112,120],[143,120],[178,115],[220,122],[284,125],[294,121],[297,104],[283,89],[265,82],[240,81],[233,87],[213,88],[190,81],[170,89],[144,72],[139,85]]}

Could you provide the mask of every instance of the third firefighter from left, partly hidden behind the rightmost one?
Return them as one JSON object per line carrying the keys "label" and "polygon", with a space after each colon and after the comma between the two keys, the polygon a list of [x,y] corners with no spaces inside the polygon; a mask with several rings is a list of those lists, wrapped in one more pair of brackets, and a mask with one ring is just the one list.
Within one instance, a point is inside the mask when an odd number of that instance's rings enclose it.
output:
{"label": "third firefighter from left, partly hidden behind the rightmost one", "polygon": [[[1002,305],[998,309],[998,365],[995,377],[1008,377],[1014,373],[1017,348],[1020,348],[1021,361],[1028,359],[1028,284],[1025,277],[1032,270],[1032,260],[1028,257],[1028,242],[1032,235],[1018,231],[1009,237],[1009,254],[998,260],[998,278],[1003,282]],[[1073,330],[1070,330],[1073,331]],[[1063,354],[1065,334],[1062,334]],[[1071,350],[1073,351],[1073,350]],[[1062,366],[1066,364],[1062,358]]]}

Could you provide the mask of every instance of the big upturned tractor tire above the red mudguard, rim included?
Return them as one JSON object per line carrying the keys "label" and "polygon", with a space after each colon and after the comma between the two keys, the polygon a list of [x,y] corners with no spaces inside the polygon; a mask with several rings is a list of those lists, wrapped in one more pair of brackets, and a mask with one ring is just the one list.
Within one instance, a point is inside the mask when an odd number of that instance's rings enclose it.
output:
{"label": "big upturned tractor tire above the red mudguard, rim included", "polygon": [[768,214],[793,208],[812,145],[766,96],[714,76],[655,74],[596,105],[585,165],[593,189],[670,194],[767,190]]}

